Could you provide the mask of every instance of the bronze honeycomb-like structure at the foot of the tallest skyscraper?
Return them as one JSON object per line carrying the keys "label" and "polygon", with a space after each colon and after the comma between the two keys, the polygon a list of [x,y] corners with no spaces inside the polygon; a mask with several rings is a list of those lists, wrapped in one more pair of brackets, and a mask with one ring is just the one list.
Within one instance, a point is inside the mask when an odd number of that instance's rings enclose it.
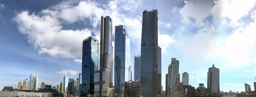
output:
{"label": "bronze honeycomb-like structure at the foot of the tallest skyscraper", "polygon": [[125,82],[124,97],[140,97],[140,82]]}

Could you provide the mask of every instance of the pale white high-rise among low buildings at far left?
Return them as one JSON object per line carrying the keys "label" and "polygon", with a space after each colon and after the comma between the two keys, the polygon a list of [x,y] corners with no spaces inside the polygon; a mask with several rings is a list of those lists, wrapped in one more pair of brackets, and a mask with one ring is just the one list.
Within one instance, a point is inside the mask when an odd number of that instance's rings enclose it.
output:
{"label": "pale white high-rise among low buildings at far left", "polygon": [[38,75],[33,75],[33,73],[30,75],[29,90],[38,90]]}

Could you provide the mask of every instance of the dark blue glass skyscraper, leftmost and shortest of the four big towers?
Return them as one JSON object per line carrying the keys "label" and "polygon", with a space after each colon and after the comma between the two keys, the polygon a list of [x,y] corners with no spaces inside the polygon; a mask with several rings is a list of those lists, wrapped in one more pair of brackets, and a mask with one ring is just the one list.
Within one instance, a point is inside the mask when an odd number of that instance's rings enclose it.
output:
{"label": "dark blue glass skyscraper, leftmost and shortest of the four big towers", "polygon": [[[80,92],[82,96],[93,95],[94,72],[98,70],[99,61],[99,41],[93,36],[83,40],[82,51],[82,79]],[[79,75],[80,78],[80,75]]]}

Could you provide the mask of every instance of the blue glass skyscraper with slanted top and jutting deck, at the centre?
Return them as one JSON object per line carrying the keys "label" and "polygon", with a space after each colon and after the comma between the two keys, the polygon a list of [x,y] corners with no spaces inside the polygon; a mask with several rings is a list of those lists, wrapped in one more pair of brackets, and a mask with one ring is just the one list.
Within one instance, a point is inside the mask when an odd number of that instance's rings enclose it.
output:
{"label": "blue glass skyscraper with slanted top and jutting deck, at the centre", "polygon": [[125,25],[115,27],[115,86],[116,93],[122,94],[125,81],[131,79],[130,39]]}

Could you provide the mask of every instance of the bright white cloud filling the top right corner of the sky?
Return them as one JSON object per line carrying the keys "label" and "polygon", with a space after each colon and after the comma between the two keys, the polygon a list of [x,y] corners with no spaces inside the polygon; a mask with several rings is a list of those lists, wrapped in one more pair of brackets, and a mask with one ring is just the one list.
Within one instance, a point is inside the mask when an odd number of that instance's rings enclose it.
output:
{"label": "bright white cloud filling the top right corner of the sky", "polygon": [[221,17],[228,17],[236,21],[240,17],[247,15],[248,11],[255,6],[256,0],[218,0],[214,1],[215,6],[211,9],[213,20]]}

